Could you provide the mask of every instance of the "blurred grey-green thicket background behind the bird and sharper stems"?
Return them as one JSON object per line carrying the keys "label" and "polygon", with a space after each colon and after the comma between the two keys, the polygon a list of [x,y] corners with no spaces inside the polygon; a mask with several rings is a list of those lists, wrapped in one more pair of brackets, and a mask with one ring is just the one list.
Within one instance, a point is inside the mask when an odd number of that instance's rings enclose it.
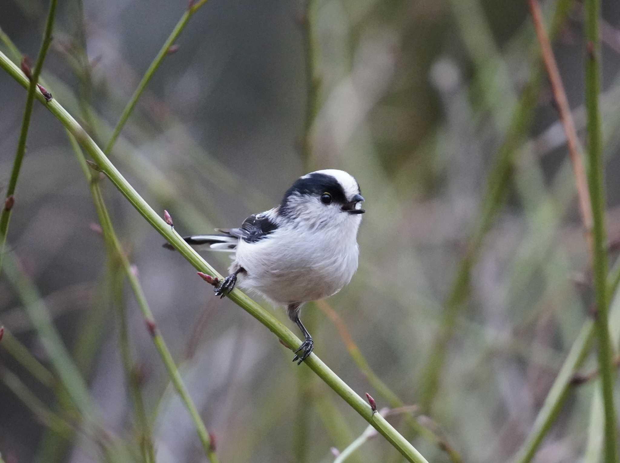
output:
{"label": "blurred grey-green thicket background behind the bird and sharper stems", "polygon": [[[582,4],[541,6],[585,141]],[[2,1],[0,50],[15,63],[19,52],[37,56],[47,7]],[[186,8],[183,0],[60,2],[42,78],[99,146]],[[603,19],[613,244],[620,4],[604,0]],[[379,408],[416,405],[414,423],[389,420],[428,461],[510,461],[592,302],[575,181],[526,2],[210,0],[175,45],[111,161],[156,211],[172,214],[181,234],[238,226],[312,170],[354,175],[368,211],[360,268],[327,304],[304,309],[315,352]],[[0,72],[0,95],[4,190],[26,94]],[[119,447],[140,461],[119,347],[122,313],[156,461],[206,461],[135,297],[107,263],[63,126],[37,102],[27,148],[6,249],[23,275],[0,276],[4,461],[108,461]],[[220,461],[334,461],[366,422],[306,366],[291,363],[263,325],[214,298],[112,183],[102,179],[100,187]],[[205,258],[221,272],[228,267],[228,255]],[[50,313],[86,379],[96,432],[79,424],[62,394],[27,304]],[[285,311],[273,314],[296,332]],[[580,371],[595,364],[589,353]],[[598,461],[598,389],[595,379],[570,387],[533,461]],[[347,461],[402,458],[379,436]]]}

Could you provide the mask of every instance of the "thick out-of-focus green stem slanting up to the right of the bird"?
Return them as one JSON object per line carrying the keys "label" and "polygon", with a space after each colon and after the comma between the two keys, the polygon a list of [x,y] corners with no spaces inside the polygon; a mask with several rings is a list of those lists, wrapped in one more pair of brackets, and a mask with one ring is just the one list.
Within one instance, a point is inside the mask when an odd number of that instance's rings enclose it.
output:
{"label": "thick out-of-focus green stem slanting up to the right of the bird", "polygon": [[[552,37],[564,22],[570,11],[572,0],[559,0],[552,20]],[[456,278],[451,286],[444,304],[443,320],[440,332],[432,346],[427,363],[423,368],[420,384],[420,406],[423,413],[428,413],[433,400],[440,389],[440,377],[445,363],[449,340],[452,338],[456,318],[461,307],[466,303],[469,295],[471,270],[477,260],[484,237],[495,219],[495,215],[502,206],[510,184],[510,174],[513,169],[513,160],[516,152],[527,136],[532,123],[532,115],[540,90],[542,77],[541,64],[537,56],[532,64],[529,81],[523,89],[520,100],[510,121],[508,132],[498,149],[497,157],[487,177],[484,200],[482,201],[480,216],[476,221],[476,229],[471,234],[465,255],[458,265]]]}

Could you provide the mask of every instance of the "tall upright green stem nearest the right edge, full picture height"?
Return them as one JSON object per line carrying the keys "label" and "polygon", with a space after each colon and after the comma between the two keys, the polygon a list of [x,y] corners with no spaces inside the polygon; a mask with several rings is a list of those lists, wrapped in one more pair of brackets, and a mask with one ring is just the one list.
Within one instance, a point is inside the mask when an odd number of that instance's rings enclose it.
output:
{"label": "tall upright green stem nearest the right edge, full picture height", "polygon": [[594,258],[593,275],[596,299],[595,331],[598,338],[598,368],[601,375],[604,408],[605,461],[616,463],[616,412],[614,410],[614,370],[608,327],[608,295],[606,286],[607,249],[605,239],[605,198],[603,187],[603,149],[601,141],[600,112],[600,56],[601,43],[598,21],[600,0],[585,1],[585,35],[587,56],[585,60],[585,100],[588,130],[588,186],[593,214]]}

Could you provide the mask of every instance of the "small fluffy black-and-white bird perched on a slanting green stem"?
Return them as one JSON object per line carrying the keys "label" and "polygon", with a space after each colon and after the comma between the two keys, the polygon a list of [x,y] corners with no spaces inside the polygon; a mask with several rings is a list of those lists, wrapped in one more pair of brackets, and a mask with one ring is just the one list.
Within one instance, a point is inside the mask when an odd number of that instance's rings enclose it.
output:
{"label": "small fluffy black-and-white bird perched on a slanting green stem", "polygon": [[294,351],[293,362],[299,365],[314,350],[314,340],[299,318],[301,307],[338,293],[357,270],[362,201],[352,175],[317,170],[299,177],[279,205],[252,214],[241,227],[216,228],[218,234],[184,240],[197,249],[234,253],[229,275],[215,286],[216,296],[223,298],[238,286],[286,307],[304,335]]}

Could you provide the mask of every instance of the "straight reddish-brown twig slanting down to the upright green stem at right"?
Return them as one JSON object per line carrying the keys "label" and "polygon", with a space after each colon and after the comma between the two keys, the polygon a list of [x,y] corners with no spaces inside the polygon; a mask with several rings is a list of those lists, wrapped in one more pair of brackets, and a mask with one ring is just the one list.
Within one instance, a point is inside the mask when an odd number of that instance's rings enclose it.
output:
{"label": "straight reddish-brown twig slanting down to the upright green stem at right", "polygon": [[588,254],[590,259],[593,252],[592,243],[592,209],[590,205],[590,193],[588,192],[588,181],[585,174],[585,168],[583,167],[582,148],[577,138],[577,130],[575,130],[575,123],[573,122],[572,113],[570,112],[569,100],[566,97],[564,91],[564,85],[562,84],[562,78],[557,69],[556,58],[551,48],[551,42],[549,42],[549,36],[544,29],[544,23],[542,21],[542,13],[538,0],[529,0],[529,10],[532,15],[532,21],[534,23],[534,29],[536,30],[536,37],[541,46],[542,60],[544,61],[544,67],[549,76],[549,82],[551,82],[551,90],[556,102],[557,111],[560,115],[560,121],[564,127],[566,134],[567,146],[569,148],[570,162],[573,166],[573,173],[575,174],[575,185],[577,186],[577,196],[579,199],[579,212],[582,217],[583,228],[585,231],[585,239],[588,245]]}

